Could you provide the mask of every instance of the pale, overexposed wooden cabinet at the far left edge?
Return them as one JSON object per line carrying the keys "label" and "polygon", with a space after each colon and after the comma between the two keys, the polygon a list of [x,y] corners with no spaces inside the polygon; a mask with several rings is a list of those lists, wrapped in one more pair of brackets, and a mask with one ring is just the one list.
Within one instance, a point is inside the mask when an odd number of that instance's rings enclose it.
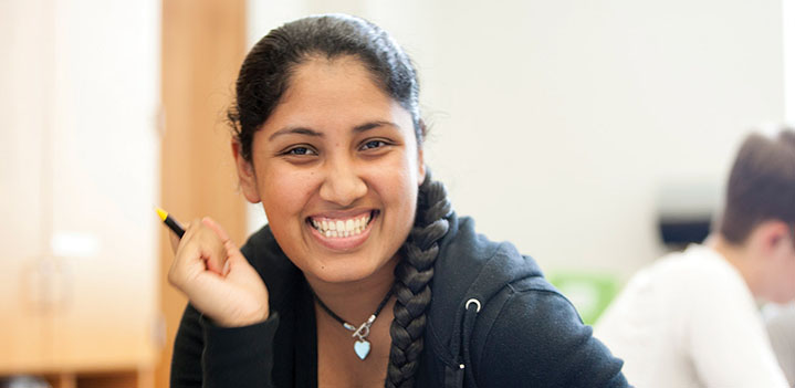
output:
{"label": "pale, overexposed wooden cabinet at the far left edge", "polygon": [[154,385],[159,13],[0,2],[0,376]]}

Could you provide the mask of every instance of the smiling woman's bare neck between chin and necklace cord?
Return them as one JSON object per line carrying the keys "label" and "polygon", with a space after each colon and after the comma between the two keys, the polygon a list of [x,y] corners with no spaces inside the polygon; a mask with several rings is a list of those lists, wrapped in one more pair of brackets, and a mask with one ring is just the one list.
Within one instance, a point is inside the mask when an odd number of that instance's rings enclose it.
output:
{"label": "smiling woman's bare neck between chin and necklace cord", "polygon": [[366,321],[384,300],[395,282],[395,255],[372,275],[345,283],[328,283],[304,273],[306,282],[331,311],[354,326]]}

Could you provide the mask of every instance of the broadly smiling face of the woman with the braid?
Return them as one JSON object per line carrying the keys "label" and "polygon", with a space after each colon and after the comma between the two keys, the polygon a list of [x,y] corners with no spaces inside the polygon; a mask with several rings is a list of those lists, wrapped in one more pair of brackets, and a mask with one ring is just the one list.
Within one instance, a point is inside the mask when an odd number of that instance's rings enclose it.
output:
{"label": "broadly smiling face of the woman with the braid", "polygon": [[[243,192],[307,277],[355,282],[396,258],[425,178],[411,115],[354,57],[313,59],[236,151]],[[391,276],[391,273],[389,274]]]}

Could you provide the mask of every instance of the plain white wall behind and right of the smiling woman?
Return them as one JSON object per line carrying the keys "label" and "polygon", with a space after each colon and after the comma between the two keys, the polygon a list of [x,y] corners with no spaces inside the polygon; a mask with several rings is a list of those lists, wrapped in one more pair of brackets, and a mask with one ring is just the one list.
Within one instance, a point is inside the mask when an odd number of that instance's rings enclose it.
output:
{"label": "plain white wall behind and right of the smiling woman", "polygon": [[547,270],[650,262],[659,192],[718,190],[745,130],[784,118],[781,0],[305,1],[281,15],[328,11],[401,42],[458,213]]}

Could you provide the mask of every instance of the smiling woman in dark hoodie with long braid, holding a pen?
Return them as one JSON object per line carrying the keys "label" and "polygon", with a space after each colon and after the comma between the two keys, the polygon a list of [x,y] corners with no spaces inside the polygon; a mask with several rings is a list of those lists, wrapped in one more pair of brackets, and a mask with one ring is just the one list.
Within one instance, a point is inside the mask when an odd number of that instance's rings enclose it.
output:
{"label": "smiling woman in dark hoodie with long braid, holding a pen", "polygon": [[232,154],[270,224],[241,250],[212,220],[187,228],[172,387],[627,385],[532,259],[452,212],[418,93],[362,19],[301,19],[251,50]]}

